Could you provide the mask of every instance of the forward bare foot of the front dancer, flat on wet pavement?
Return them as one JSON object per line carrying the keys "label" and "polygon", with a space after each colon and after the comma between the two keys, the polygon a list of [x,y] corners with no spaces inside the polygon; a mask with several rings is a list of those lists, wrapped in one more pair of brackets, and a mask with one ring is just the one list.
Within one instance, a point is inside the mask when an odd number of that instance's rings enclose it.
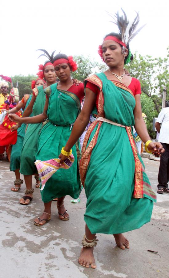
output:
{"label": "forward bare foot of the front dancer, flat on wet pavement", "polygon": [[84,267],[88,268],[91,265],[92,268],[96,268],[95,259],[93,256],[93,247],[82,247],[78,262]]}

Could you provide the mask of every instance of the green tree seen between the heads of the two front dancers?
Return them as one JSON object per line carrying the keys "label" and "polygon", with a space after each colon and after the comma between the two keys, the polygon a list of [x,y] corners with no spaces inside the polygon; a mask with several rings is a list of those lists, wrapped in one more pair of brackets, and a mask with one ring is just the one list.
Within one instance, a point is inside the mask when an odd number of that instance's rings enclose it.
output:
{"label": "green tree seen between the heads of the two front dancers", "polygon": [[74,61],[78,64],[78,69],[72,72],[72,78],[76,78],[78,80],[83,81],[89,75],[92,74],[93,69],[98,66],[98,63],[91,59],[90,56],[84,57],[81,56],[74,56]]}

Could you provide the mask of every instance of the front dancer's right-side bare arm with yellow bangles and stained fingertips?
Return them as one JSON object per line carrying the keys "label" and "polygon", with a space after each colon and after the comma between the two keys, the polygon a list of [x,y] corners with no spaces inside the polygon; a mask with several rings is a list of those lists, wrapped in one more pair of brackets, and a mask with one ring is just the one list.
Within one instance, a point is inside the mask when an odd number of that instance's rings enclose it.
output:
{"label": "front dancer's right-side bare arm with yellow bangles and stained fingertips", "polygon": [[[134,118],[135,118],[134,127],[135,127],[135,130],[136,130],[137,134],[141,138],[141,140],[144,143],[146,143],[148,140],[151,140],[151,139],[150,139],[150,136],[148,134],[146,124],[145,124],[145,122],[143,120],[143,117],[142,117],[140,94],[135,95],[135,102],[136,102],[135,109],[133,111]],[[164,152],[163,146],[159,142],[149,143],[148,150],[150,152],[152,152],[153,154],[155,154],[156,156],[160,156]]]}

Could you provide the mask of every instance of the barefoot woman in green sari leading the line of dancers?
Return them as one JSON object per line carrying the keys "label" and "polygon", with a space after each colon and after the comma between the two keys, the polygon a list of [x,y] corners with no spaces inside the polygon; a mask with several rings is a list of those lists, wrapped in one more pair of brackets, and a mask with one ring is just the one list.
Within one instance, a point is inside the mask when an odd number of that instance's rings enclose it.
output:
{"label": "barefoot woman in green sari leading the line of dancers", "polygon": [[[121,249],[129,248],[122,233],[138,229],[151,219],[156,196],[137,152],[132,126],[149,151],[157,156],[164,151],[160,143],[150,141],[141,114],[139,81],[124,72],[124,61],[128,57],[131,60],[129,45],[122,42],[119,34],[111,33],[105,37],[100,51],[109,69],[85,80],[82,111],[63,145],[69,155],[93,110],[97,119],[87,131],[80,161],[87,204],[86,233],[79,257],[81,265],[92,268],[96,267],[93,256],[96,233],[113,234]],[[62,163],[66,156],[61,153],[59,158]]]}

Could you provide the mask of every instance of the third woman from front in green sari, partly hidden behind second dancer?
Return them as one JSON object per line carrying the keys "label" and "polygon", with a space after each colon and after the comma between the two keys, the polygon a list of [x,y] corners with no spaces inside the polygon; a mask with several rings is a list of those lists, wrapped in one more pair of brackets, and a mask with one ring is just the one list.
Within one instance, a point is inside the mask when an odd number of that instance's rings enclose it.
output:
{"label": "third woman from front in green sari, partly hidden behind second dancer", "polygon": [[[28,117],[31,112],[33,112],[34,116],[39,115],[43,112],[46,101],[44,89],[46,88],[46,86],[50,86],[51,84],[56,83],[56,74],[54,71],[54,66],[50,61],[47,61],[44,65],[40,65],[39,69],[41,70],[41,72],[39,72],[40,78],[44,77],[47,81],[47,84],[38,86],[33,89],[32,99],[27,108],[25,109],[22,119]],[[17,122],[19,123],[19,120],[17,120]],[[32,175],[37,174],[37,169],[34,165],[34,162],[35,154],[37,152],[38,136],[41,128],[42,123],[28,124],[23,141],[21,151],[20,173],[24,175],[26,190],[25,196],[23,196],[19,200],[20,204],[23,205],[28,205],[33,198],[34,189],[32,188]]]}

